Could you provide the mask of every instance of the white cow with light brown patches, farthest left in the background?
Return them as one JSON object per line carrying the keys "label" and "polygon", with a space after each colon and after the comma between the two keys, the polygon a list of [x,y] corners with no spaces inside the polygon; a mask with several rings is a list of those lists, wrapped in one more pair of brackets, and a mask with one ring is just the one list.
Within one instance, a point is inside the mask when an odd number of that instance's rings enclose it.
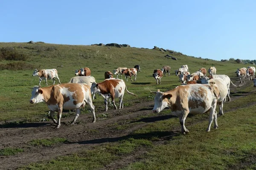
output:
{"label": "white cow with light brown patches, farthest left in the background", "polygon": [[58,78],[58,71],[56,69],[34,69],[32,76],[39,77],[39,86],[41,85],[41,81],[45,79],[45,83],[47,84],[47,80],[53,80],[53,85],[55,84],[55,78],[57,78],[59,84],[61,84],[60,79]]}

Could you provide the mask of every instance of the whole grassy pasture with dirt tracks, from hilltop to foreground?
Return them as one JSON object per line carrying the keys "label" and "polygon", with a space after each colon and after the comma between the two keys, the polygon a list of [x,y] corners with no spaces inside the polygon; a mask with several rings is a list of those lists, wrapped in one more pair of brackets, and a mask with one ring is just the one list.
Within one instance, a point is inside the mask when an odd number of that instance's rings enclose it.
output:
{"label": "whole grassy pasture with dirt tracks, from hilltop to foreground", "polygon": [[[149,92],[180,85],[174,71],[156,84],[152,72],[166,65],[175,70],[187,64],[190,73],[215,66],[217,74],[230,76],[236,85],[234,72],[248,65],[133,47],[0,43],[0,49],[7,47],[27,56],[24,65],[57,69],[61,83],[67,83],[74,70],[82,67],[90,68],[96,82],[104,81],[104,72],[117,67],[140,64],[143,72],[137,81],[126,82],[128,90],[138,96],[125,92],[124,109],[110,106],[104,112],[104,100],[96,95],[96,123],[91,123],[85,106],[76,125],[69,125],[75,115],[70,111],[62,114],[61,127],[55,129],[47,105],[29,103],[30,88],[39,84],[39,78],[32,77],[33,69],[0,70],[0,169],[256,169],[256,89],[252,81],[245,80],[239,89],[230,86],[231,101],[224,103],[224,115],[218,116],[219,128],[209,133],[205,132],[208,114],[202,114],[189,116],[185,124],[190,133],[181,134],[178,118],[169,109],[152,113],[154,95]],[[2,60],[0,64],[10,62],[20,61]],[[46,86],[44,81],[41,85]]]}

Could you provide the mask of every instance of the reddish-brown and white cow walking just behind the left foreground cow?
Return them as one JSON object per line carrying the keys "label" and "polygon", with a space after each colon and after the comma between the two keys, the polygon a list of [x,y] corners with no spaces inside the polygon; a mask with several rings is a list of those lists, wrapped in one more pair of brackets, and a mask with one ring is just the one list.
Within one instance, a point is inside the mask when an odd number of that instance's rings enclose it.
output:
{"label": "reddish-brown and white cow walking just behind the left foreground cow", "polygon": [[125,89],[126,91],[131,94],[131,95],[135,95],[132,92],[129,92],[127,90],[127,87],[125,86],[125,81],[121,80],[121,79],[105,79],[105,81],[101,82],[101,83],[93,83],[91,86],[91,93],[95,94],[95,93],[99,93],[103,96],[103,98],[105,99],[105,111],[108,110],[108,98],[112,99],[112,103],[114,105],[114,108],[117,109],[116,104],[115,104],[115,98],[119,98],[119,109],[123,108],[123,96],[125,94]]}

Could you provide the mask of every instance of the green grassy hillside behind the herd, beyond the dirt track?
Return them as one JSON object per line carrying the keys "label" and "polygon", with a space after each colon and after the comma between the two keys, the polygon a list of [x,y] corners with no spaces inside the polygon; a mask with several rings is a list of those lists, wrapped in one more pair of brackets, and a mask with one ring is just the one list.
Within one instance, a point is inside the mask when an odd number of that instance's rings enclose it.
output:
{"label": "green grassy hillside behind the herd, beyond the dirt track", "polygon": [[[234,76],[234,71],[244,64],[237,64],[234,61],[213,61],[204,60],[182,55],[180,53],[161,52],[157,49],[140,49],[130,47],[110,47],[110,46],[82,46],[82,45],[58,45],[48,43],[0,43],[0,49],[6,49],[15,55],[21,54],[24,61],[0,61],[0,120],[17,118],[31,118],[35,115],[44,115],[47,110],[45,104],[29,104],[31,89],[38,85],[38,77],[32,77],[33,68],[58,70],[61,83],[67,83],[74,76],[74,70],[82,67],[89,67],[96,82],[104,80],[104,72],[111,71],[120,66],[133,68],[140,64],[143,71],[137,76],[136,82],[130,80],[126,83],[128,90],[138,95],[138,101],[150,98],[149,90],[161,89],[166,91],[179,85],[178,77],[172,74],[170,77],[162,78],[162,84],[156,85],[156,81],[151,76],[154,69],[160,69],[165,65],[171,66],[172,70],[187,64],[189,71],[195,72],[201,67],[209,68],[215,66],[217,74]],[[172,55],[178,60],[164,57],[166,54]],[[18,55],[18,56],[19,56]],[[14,57],[15,59],[15,57]],[[21,62],[21,63],[20,63]],[[14,63],[11,69],[7,70],[4,65]],[[16,65],[15,65],[16,63]],[[174,73],[174,72],[173,72]],[[49,85],[52,81],[48,81]],[[42,82],[45,86],[45,82]],[[134,96],[125,94],[126,105],[132,104]],[[98,108],[103,105],[102,98],[94,101]]]}

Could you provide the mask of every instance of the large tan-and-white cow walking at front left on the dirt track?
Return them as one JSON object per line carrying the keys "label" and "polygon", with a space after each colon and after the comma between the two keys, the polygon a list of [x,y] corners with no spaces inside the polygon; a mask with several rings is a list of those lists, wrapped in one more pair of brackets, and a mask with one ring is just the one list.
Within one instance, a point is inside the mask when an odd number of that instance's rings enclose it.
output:
{"label": "large tan-and-white cow walking at front left on the dirt track", "polygon": [[[85,104],[88,104],[93,113],[93,122],[96,121],[90,87],[87,84],[67,83],[49,87],[34,86],[30,103],[35,104],[43,101],[50,109],[50,117],[57,124],[56,128],[61,126],[62,109],[76,109],[76,116],[71,122],[71,124],[75,124],[80,114],[80,108],[84,107]],[[53,117],[54,112],[58,112],[58,122]]]}

